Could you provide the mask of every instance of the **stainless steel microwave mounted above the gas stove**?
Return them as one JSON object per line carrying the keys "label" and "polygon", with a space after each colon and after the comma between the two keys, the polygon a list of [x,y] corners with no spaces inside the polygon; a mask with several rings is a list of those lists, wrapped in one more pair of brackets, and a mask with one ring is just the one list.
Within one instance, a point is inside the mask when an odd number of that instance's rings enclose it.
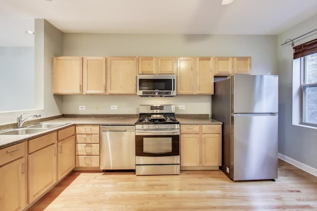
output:
{"label": "stainless steel microwave mounted above the gas stove", "polygon": [[139,96],[175,96],[176,75],[138,75],[137,94]]}

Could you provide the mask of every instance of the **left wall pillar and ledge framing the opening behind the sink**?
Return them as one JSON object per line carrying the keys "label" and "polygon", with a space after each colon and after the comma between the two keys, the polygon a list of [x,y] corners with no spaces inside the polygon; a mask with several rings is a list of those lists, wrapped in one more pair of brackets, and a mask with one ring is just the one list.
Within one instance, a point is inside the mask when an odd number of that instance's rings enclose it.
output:
{"label": "left wall pillar and ledge framing the opening behind the sink", "polygon": [[[0,113],[0,124],[16,123],[18,115],[25,112],[28,114],[24,117],[41,114],[42,118],[62,113],[62,97],[55,97],[52,94],[52,57],[62,55],[62,52],[63,33],[48,21],[35,19],[35,107],[31,110]],[[16,103],[24,103],[24,101],[16,101]],[[5,101],[1,100],[1,103]]]}

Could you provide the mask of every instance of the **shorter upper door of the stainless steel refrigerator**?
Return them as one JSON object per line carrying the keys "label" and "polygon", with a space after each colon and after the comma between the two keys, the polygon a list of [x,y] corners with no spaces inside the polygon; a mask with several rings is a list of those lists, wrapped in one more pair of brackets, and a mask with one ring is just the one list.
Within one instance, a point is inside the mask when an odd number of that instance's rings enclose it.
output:
{"label": "shorter upper door of the stainless steel refrigerator", "polygon": [[232,77],[232,113],[278,113],[278,76]]}

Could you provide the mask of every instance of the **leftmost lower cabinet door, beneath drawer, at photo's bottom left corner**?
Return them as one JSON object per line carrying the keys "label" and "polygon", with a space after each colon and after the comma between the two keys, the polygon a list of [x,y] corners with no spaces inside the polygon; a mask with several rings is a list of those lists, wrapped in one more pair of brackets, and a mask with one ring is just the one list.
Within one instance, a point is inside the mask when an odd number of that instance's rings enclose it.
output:
{"label": "leftmost lower cabinet door, beneath drawer, at photo's bottom left corner", "polygon": [[22,211],[25,207],[25,158],[0,167],[0,211]]}

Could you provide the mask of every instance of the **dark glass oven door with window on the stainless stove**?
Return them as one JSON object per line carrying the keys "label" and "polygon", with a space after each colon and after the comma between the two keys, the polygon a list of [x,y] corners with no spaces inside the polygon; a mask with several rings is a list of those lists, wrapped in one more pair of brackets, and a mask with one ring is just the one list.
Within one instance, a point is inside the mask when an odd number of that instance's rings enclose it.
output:
{"label": "dark glass oven door with window on the stainless stove", "polygon": [[178,156],[179,132],[178,134],[168,132],[164,134],[162,131],[156,133],[136,131],[135,155],[146,157]]}

